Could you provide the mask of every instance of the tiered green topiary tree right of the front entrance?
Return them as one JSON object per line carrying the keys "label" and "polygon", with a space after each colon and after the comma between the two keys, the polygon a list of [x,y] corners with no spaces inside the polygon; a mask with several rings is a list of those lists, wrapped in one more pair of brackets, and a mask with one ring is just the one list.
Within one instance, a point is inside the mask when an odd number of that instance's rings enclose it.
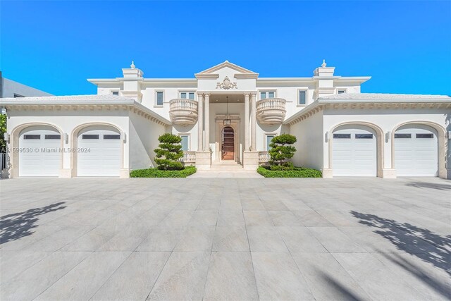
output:
{"label": "tiered green topiary tree right of the front entrance", "polygon": [[293,164],[288,159],[291,159],[296,152],[296,148],[292,146],[296,141],[295,136],[288,134],[273,137],[269,144],[269,147],[271,147],[269,149],[271,170],[289,171],[293,169]]}

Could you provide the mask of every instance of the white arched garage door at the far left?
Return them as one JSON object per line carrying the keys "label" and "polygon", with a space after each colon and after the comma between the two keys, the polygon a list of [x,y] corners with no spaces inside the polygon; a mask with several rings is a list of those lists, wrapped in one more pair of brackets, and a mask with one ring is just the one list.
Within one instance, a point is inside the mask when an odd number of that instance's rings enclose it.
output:
{"label": "white arched garage door at the far left", "polygon": [[19,135],[19,176],[56,177],[61,166],[61,134],[48,125],[25,128]]}

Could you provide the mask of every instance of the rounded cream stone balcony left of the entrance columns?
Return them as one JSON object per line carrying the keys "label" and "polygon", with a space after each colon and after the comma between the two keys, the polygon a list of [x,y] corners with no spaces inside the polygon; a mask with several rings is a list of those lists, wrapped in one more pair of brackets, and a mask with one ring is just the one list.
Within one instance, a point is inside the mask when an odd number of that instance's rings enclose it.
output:
{"label": "rounded cream stone balcony left of the entrance columns", "polygon": [[190,125],[197,122],[197,102],[192,99],[172,99],[169,116],[173,124]]}

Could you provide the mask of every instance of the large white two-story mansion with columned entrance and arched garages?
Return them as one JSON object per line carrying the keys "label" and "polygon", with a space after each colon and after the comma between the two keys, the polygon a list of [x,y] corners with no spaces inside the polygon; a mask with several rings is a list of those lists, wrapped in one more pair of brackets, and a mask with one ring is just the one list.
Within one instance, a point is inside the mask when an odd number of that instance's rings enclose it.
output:
{"label": "large white two-story mansion with columned entrance and arched garages", "polygon": [[9,156],[10,176],[126,178],[154,166],[157,138],[169,132],[182,137],[183,160],[201,169],[257,168],[272,137],[290,133],[295,165],[327,178],[450,177],[451,97],[365,94],[369,77],[334,70],[323,62],[312,77],[259,78],[225,61],[168,79],[143,78],[132,63],[122,78],[89,80],[97,95],[1,99],[9,146],[24,150]]}

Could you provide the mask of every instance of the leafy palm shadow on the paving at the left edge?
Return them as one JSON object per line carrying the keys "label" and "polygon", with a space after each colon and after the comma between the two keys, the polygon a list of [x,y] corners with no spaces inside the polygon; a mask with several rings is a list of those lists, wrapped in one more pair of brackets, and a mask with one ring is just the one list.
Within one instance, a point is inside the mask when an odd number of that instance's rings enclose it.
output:
{"label": "leafy palm shadow on the paving at the left edge", "polygon": [[65,202],[50,204],[46,207],[33,208],[27,211],[7,214],[0,217],[0,245],[32,235],[32,228],[37,227],[38,216],[51,211],[61,210]]}

